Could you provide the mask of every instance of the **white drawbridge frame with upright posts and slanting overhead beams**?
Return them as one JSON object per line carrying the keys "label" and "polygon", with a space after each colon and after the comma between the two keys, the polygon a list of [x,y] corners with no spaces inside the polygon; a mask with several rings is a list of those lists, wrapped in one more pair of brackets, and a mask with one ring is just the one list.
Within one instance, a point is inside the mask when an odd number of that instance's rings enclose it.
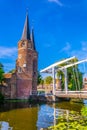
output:
{"label": "white drawbridge frame with upright posts and slanting overhead beams", "polygon": [[56,62],[56,63],[54,63],[54,64],[52,64],[52,65],[50,65],[50,66],[48,66],[45,69],[40,71],[41,73],[52,73],[52,77],[53,77],[53,95],[55,95],[55,74],[56,74],[56,72],[58,70],[63,70],[63,72],[64,72],[64,76],[65,76],[65,93],[67,94],[67,92],[68,92],[67,68],[78,65],[78,64],[81,64],[83,62],[87,62],[87,59],[84,59],[84,60],[69,64],[69,65],[65,65],[63,67],[59,67],[59,65],[61,65],[63,63],[66,63],[66,62],[68,62],[70,60],[73,60],[75,58],[76,57],[73,56],[73,57],[67,58],[65,60]]}

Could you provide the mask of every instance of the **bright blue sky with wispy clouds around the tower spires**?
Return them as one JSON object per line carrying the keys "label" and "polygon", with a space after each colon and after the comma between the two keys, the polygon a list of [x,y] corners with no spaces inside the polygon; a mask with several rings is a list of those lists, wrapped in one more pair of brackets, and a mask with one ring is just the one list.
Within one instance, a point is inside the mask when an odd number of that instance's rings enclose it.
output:
{"label": "bright blue sky with wispy clouds around the tower spires", "polygon": [[87,0],[0,0],[0,62],[6,72],[15,68],[27,8],[39,70],[70,56],[87,57]]}

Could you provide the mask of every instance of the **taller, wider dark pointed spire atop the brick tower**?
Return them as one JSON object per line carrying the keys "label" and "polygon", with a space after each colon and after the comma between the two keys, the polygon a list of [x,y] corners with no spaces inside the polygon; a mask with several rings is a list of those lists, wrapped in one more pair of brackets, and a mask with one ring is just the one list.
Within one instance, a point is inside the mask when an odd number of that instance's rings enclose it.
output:
{"label": "taller, wider dark pointed spire atop the brick tower", "polygon": [[24,29],[23,29],[21,40],[30,40],[30,30],[29,30],[29,22],[28,22],[28,13],[26,15],[26,20],[25,20],[25,24],[24,24]]}

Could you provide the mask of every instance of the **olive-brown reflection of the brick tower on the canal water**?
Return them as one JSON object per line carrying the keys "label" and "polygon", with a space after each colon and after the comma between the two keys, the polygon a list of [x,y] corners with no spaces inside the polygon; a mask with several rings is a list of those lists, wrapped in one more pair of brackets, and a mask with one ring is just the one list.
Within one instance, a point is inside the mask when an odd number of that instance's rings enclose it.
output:
{"label": "olive-brown reflection of the brick tower on the canal water", "polygon": [[[37,130],[36,122],[38,116],[38,107],[37,106],[31,107],[29,103],[24,103],[24,106],[26,107],[22,106],[23,103],[18,104],[17,103],[15,104],[16,108],[13,107],[15,106],[14,103],[13,106],[12,104],[9,105],[5,104],[5,106],[9,107],[9,111],[0,112],[0,121],[9,122],[10,126],[13,127],[13,130]],[[6,110],[6,108],[4,107],[3,109]]]}

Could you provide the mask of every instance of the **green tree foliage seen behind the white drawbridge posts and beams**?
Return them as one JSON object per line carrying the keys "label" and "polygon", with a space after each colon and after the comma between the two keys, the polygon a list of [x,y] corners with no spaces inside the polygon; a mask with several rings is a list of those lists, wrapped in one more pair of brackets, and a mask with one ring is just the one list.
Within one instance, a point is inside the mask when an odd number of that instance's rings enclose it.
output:
{"label": "green tree foliage seen behind the white drawbridge posts and beams", "polygon": [[[75,63],[77,61],[78,61],[78,59],[75,58],[71,61],[68,61],[67,63],[61,64],[59,67],[63,67],[65,65]],[[82,88],[83,78],[82,78],[82,73],[78,69],[78,65],[68,68],[67,76],[68,76],[68,89],[69,90],[79,90]],[[62,86],[62,89],[64,89],[64,82],[65,82],[64,73],[62,71],[58,70],[57,77],[58,77],[58,79],[61,78],[61,86]]]}

